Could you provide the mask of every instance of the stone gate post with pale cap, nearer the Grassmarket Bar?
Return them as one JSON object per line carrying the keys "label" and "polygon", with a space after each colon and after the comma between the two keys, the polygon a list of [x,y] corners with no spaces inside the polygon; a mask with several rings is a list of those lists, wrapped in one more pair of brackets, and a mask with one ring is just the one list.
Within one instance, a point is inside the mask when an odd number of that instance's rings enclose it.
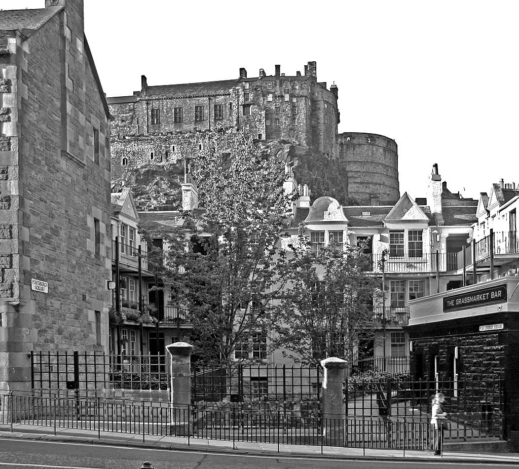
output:
{"label": "stone gate post with pale cap, nearer the Grassmarket Bar", "polygon": [[346,405],[343,402],[344,370],[347,362],[329,357],[321,360],[324,370],[322,384],[323,444],[342,446],[346,432]]}

